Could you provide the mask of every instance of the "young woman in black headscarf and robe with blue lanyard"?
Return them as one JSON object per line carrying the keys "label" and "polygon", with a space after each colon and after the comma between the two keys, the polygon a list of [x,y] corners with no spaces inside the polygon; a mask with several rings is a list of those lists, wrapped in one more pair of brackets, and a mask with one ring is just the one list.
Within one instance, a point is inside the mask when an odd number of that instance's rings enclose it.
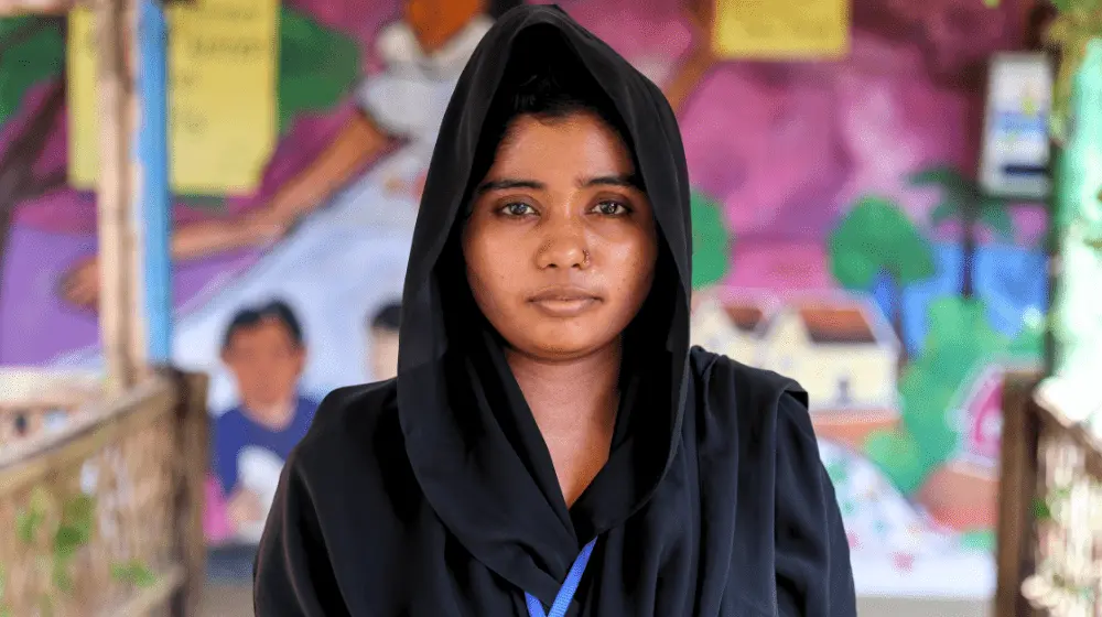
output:
{"label": "young woman in black headscarf and robe with blue lanyard", "polygon": [[398,378],[289,458],[257,615],[855,615],[806,393],[689,348],[689,221],[658,88],[507,13],[441,127]]}

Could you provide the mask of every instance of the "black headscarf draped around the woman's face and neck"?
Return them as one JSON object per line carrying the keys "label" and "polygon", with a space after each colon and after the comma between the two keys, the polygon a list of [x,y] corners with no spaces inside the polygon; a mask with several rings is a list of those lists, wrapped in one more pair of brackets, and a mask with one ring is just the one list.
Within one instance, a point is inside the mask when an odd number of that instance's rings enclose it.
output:
{"label": "black headscarf draped around the woman's face and neck", "polygon": [[[648,308],[665,323],[637,324],[633,343],[650,351],[648,361],[622,370],[629,396],[622,398],[609,462],[569,513],[500,345],[465,297],[455,267],[465,202],[482,181],[471,175],[480,166],[478,151],[500,132],[487,126],[489,110],[508,96],[501,84],[515,83],[507,72],[548,62],[590,72],[612,99],[663,242]],[[689,350],[689,215],[684,150],[661,90],[557,7],[506,13],[460,77],[429,167],[402,301],[398,407],[433,509],[479,561],[522,588],[553,597],[579,548],[637,510],[672,461]],[[638,393],[642,381],[658,387],[642,379],[651,372],[663,374],[663,400]],[[474,387],[462,392],[464,383]]]}

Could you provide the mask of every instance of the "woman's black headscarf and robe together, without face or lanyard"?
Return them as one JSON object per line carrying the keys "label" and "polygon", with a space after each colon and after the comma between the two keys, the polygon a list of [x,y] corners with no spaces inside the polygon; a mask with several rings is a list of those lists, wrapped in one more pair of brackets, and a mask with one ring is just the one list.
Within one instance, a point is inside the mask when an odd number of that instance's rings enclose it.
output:
{"label": "woman's black headscarf and robe together, without face or lanyard", "polygon": [[[660,230],[626,335],[606,465],[568,509],[474,305],[457,235],[512,72],[599,85]],[[662,93],[555,7],[507,12],[437,138],[402,297],[397,380],[332,393],[289,458],[258,554],[257,614],[527,615],[597,538],[568,615],[854,614],[844,530],[790,380],[689,349],[689,178]]]}

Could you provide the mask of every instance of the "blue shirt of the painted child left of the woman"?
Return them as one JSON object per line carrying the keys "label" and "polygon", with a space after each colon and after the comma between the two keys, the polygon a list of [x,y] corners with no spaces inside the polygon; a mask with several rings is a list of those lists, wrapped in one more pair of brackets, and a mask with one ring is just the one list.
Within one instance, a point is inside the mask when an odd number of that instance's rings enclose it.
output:
{"label": "blue shirt of the painted child left of the woman", "polygon": [[279,472],[310,429],[317,403],[298,398],[294,416],[282,431],[257,424],[240,407],[235,407],[214,421],[214,473],[225,495],[245,483],[253,491],[274,487]]}

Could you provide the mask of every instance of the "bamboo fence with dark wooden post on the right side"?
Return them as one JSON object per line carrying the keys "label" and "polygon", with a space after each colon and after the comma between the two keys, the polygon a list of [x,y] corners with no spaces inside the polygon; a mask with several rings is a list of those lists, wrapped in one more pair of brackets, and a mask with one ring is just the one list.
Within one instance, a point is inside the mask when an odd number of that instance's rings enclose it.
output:
{"label": "bamboo fence with dark wooden post on the right side", "polygon": [[1102,443],[1007,379],[1000,487],[1000,617],[1102,616]]}

